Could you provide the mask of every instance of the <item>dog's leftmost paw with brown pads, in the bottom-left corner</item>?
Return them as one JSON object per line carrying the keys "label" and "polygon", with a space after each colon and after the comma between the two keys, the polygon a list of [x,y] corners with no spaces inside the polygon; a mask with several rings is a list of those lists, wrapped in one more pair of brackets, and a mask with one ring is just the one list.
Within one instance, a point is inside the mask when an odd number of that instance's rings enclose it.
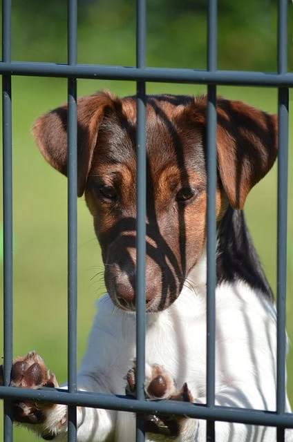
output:
{"label": "dog's leftmost paw with brown pads, in the bottom-left corner", "polygon": [[[3,384],[3,366],[0,366],[0,385]],[[15,358],[10,374],[10,386],[32,388],[58,388],[55,374],[51,373],[41,356],[30,352]],[[34,401],[15,401],[12,406],[13,420],[24,425],[33,425],[44,439],[53,439],[58,427],[66,422],[66,416],[59,416],[58,405]],[[60,418],[60,419],[59,419]],[[54,425],[55,424],[55,425]]]}

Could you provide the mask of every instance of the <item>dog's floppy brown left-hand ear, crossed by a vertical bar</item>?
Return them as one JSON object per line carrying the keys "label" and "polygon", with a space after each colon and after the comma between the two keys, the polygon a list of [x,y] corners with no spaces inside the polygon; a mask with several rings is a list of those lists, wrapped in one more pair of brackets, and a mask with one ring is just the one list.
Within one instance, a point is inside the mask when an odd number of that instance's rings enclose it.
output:
{"label": "dog's floppy brown left-hand ear, crossed by a vertical bar", "polygon": [[[77,195],[82,196],[91,169],[97,133],[104,114],[121,109],[108,91],[77,99]],[[39,150],[57,171],[67,175],[67,104],[37,118],[32,127]]]}

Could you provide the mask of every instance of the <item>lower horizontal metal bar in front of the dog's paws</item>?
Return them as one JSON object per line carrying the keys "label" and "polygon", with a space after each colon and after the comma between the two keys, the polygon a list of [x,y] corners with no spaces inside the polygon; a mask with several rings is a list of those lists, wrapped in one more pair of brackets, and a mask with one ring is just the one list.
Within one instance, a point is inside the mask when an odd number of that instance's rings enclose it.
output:
{"label": "lower horizontal metal bar in front of the dog's paws", "polygon": [[246,423],[251,425],[265,425],[293,428],[293,414],[250,410],[234,407],[208,408],[202,404],[191,404],[178,401],[138,401],[129,396],[115,394],[77,392],[68,393],[64,390],[28,390],[27,388],[0,387],[0,398],[26,399],[28,401],[42,401],[61,403],[64,405],[78,405],[80,407],[104,408],[106,410],[121,410],[124,412],[138,412],[148,414],[167,414],[171,416],[187,416],[197,419],[214,419],[215,421]]}

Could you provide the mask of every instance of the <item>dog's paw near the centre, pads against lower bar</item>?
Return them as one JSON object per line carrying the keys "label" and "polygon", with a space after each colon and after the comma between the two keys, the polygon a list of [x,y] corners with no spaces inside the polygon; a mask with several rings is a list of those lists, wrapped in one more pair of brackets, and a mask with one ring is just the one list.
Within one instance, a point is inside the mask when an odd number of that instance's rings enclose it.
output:
{"label": "dog's paw near the centre, pads against lower bar", "polygon": [[[135,366],[126,375],[126,394],[135,394]],[[146,366],[144,393],[147,399],[169,399],[171,401],[193,402],[193,396],[187,386],[178,390],[169,373],[160,365]],[[145,417],[145,430],[164,436],[178,436],[186,418],[149,414]]]}

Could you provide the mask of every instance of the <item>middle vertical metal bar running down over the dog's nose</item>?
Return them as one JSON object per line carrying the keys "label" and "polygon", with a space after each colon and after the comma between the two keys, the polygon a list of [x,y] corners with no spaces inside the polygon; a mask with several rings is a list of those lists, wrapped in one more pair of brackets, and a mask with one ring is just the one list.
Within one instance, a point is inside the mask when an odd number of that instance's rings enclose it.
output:
{"label": "middle vertical metal bar running down over the dog's nose", "polygon": [[[136,66],[144,68],[146,62],[147,8],[145,0],[136,1]],[[147,207],[147,159],[146,159],[146,91],[145,82],[137,83],[138,122],[136,131],[136,397],[144,399],[145,369],[145,262],[146,262],[146,207]],[[136,415],[136,442],[145,440],[144,415]]]}

